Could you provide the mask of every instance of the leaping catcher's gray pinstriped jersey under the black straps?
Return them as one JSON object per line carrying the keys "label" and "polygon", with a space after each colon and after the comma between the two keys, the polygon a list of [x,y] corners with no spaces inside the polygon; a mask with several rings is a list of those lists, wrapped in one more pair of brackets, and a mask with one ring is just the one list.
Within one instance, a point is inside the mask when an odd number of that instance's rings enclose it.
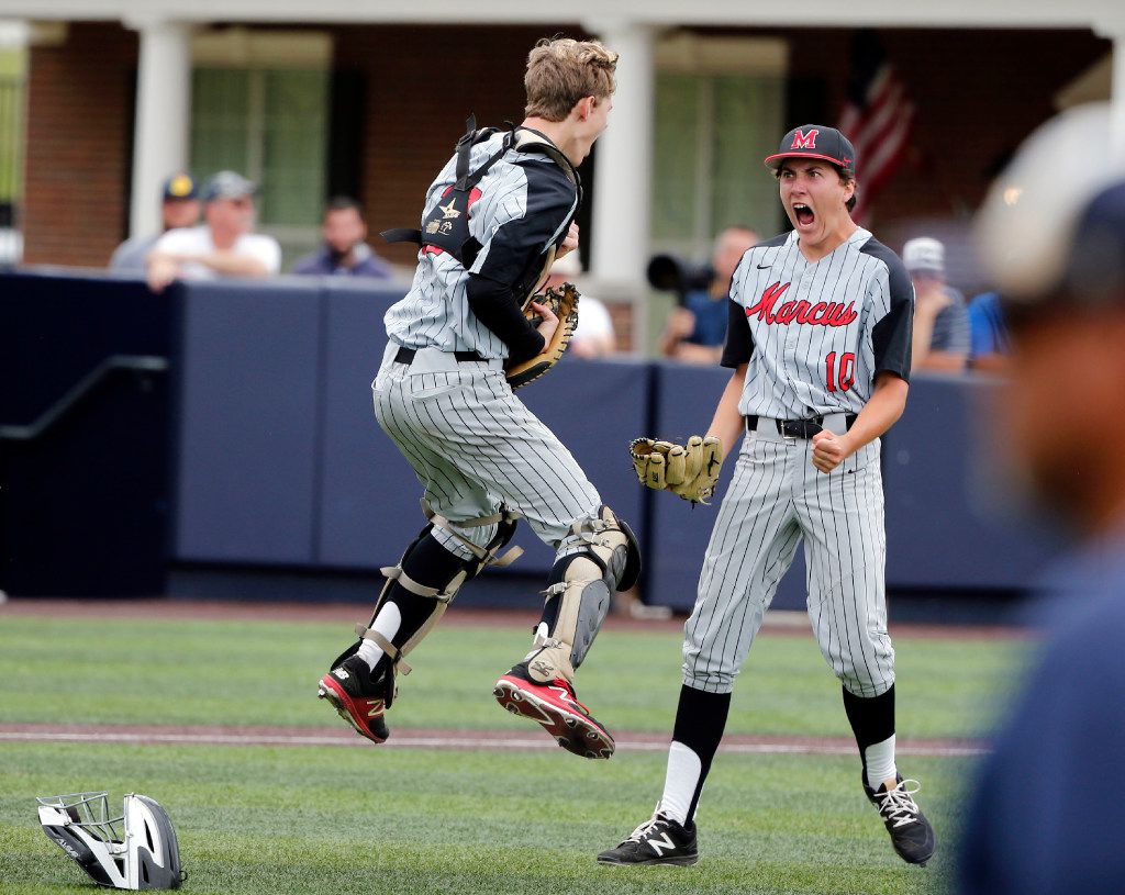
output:
{"label": "leaping catcher's gray pinstriped jersey under the black straps", "polygon": [[[476,144],[469,159],[469,170],[475,171],[495,153],[504,134]],[[475,351],[482,358],[506,358],[507,346],[472,314],[465,289],[472,273],[487,272],[489,251],[494,237],[506,224],[528,215],[528,181],[539,165],[557,168],[552,161],[538,153],[510,150],[488,171],[478,184],[479,199],[470,200],[469,233],[480,244],[472,266],[467,271],[448,253],[422,251],[414,281],[406,296],[390,307],[384,317],[387,335],[400,345],[412,349],[438,347],[441,351]],[[433,211],[446,189],[457,180],[454,155],[430,184],[422,219]],[[561,179],[561,173],[559,178]],[[560,181],[561,182],[561,181]],[[558,228],[548,234],[541,248],[557,243],[577,208],[578,197],[569,188],[573,202]],[[557,216],[556,216],[557,217]]]}

